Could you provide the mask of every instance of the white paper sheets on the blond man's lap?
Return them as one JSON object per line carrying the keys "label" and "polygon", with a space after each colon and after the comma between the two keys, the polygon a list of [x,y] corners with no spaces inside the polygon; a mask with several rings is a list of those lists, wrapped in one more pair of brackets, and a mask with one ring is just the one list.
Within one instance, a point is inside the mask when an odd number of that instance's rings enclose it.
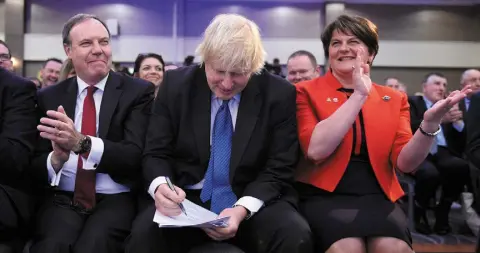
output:
{"label": "white paper sheets on the blond man's lap", "polygon": [[216,213],[211,212],[188,199],[183,201],[187,215],[183,212],[179,216],[165,216],[159,211],[155,212],[153,221],[159,227],[226,227],[229,217],[218,218]]}

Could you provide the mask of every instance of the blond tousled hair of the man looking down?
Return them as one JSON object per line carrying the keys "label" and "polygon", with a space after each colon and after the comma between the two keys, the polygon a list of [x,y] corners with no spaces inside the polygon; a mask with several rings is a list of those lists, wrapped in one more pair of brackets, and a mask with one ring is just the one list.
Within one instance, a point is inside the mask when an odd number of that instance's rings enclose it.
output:
{"label": "blond tousled hair of the man looking down", "polygon": [[259,73],[265,62],[260,29],[238,14],[217,15],[203,34],[197,47],[202,63],[215,62],[225,71]]}

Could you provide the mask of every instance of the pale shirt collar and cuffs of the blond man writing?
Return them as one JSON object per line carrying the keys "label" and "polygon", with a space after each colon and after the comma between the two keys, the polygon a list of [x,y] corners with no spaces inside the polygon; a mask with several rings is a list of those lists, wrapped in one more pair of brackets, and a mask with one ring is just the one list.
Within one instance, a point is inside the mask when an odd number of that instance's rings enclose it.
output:
{"label": "pale shirt collar and cuffs of the blond man writing", "polygon": [[[237,122],[237,114],[238,114],[238,107],[240,105],[240,98],[241,98],[241,95],[237,94],[228,102],[228,108],[230,109],[230,115],[232,116],[233,131],[235,131],[235,124]],[[213,132],[213,125],[215,122],[215,117],[222,103],[223,103],[223,100],[217,98],[214,94],[212,94],[212,104],[211,104],[211,111],[210,111],[210,144],[212,143],[212,132]],[[202,179],[202,181],[200,181],[199,183],[195,185],[186,186],[185,188],[191,189],[191,190],[201,190],[203,188],[204,182],[205,182],[205,179]],[[150,187],[148,188],[148,193],[152,196],[152,198],[155,198],[155,190],[157,189],[157,187],[161,184],[166,184],[166,183],[167,181],[165,177],[155,178],[150,184]],[[235,203],[235,205],[240,205],[245,207],[248,211],[250,211],[252,215],[258,212],[258,210],[260,210],[263,204],[264,202],[262,200],[259,200],[251,196],[241,197],[237,201],[237,203]]]}

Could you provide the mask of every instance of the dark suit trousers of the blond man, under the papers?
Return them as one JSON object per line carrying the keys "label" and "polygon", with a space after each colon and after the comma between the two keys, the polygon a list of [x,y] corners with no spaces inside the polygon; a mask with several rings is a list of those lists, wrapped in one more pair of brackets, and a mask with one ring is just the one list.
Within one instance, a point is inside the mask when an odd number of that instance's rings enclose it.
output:
{"label": "dark suit trousers of the blond man, under the papers", "polygon": [[[200,201],[200,191],[187,191],[190,201],[208,208]],[[135,219],[127,238],[126,253],[186,253],[213,241],[199,228],[159,228],[153,222],[155,204]],[[208,204],[208,202],[207,202]],[[226,241],[249,253],[311,253],[313,243],[306,220],[286,201],[276,201],[262,208],[240,224],[233,239]]]}

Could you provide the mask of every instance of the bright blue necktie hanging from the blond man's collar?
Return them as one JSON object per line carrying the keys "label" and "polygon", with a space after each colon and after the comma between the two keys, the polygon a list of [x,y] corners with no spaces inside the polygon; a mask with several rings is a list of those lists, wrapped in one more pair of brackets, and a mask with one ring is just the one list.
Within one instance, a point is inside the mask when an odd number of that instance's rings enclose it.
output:
{"label": "bright blue necktie hanging from the blond man's collar", "polygon": [[211,200],[210,210],[217,214],[237,201],[229,179],[232,136],[232,116],[228,100],[224,100],[215,116],[210,161],[200,194],[203,202]]}

